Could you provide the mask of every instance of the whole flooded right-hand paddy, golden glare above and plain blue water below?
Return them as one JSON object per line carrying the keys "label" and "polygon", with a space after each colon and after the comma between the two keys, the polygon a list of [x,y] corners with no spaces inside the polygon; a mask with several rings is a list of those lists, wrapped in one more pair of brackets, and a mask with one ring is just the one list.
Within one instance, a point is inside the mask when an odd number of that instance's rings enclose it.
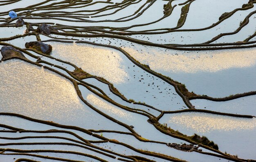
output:
{"label": "whole flooded right-hand paddy, golden glare above and plain blue water below", "polygon": [[225,97],[256,90],[254,48],[177,51],[136,45],[124,49],[142,64],[148,64],[152,70],[182,82],[189,91]]}

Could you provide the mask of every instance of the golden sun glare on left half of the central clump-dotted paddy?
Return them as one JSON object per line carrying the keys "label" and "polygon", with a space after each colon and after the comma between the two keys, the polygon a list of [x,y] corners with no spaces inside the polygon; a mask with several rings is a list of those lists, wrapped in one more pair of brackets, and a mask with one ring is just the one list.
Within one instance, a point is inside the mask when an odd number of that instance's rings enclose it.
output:
{"label": "golden sun glare on left half of the central clump-dotted paddy", "polygon": [[[86,72],[105,78],[113,83],[122,83],[128,78],[121,62],[123,59],[115,51],[106,48],[95,48],[92,45],[53,43],[53,56],[66,60],[67,57],[77,64],[80,63]],[[65,51],[65,52],[64,52]]]}

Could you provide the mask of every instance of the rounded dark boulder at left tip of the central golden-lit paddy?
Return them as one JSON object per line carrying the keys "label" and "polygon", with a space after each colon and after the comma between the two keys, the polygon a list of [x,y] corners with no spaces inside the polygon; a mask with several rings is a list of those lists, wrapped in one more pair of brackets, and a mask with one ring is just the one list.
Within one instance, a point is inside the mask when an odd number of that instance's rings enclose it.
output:
{"label": "rounded dark boulder at left tip of the central golden-lit paddy", "polygon": [[45,44],[42,42],[27,42],[25,44],[27,49],[35,49],[36,51],[42,52],[44,54],[49,55],[52,52],[52,46],[49,44]]}

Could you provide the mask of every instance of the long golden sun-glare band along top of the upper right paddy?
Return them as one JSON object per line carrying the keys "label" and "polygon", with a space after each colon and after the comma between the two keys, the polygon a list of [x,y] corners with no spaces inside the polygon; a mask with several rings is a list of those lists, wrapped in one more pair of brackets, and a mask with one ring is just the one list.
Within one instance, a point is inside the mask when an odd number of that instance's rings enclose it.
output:
{"label": "long golden sun-glare band along top of the upper right paddy", "polygon": [[154,70],[173,73],[218,72],[256,64],[256,49],[178,51],[143,45],[124,49]]}

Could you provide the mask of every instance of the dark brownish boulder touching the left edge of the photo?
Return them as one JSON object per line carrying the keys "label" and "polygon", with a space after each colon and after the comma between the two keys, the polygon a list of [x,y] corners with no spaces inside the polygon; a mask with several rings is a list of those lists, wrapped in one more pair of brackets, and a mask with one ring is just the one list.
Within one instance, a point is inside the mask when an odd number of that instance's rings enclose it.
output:
{"label": "dark brownish boulder touching the left edge of the photo", "polygon": [[2,54],[2,60],[4,59],[7,59],[7,58],[11,58],[11,57],[22,57],[22,58],[25,58],[25,56],[23,55],[23,53],[16,49],[16,48],[13,48],[11,46],[3,46],[1,49],[1,54]]}

